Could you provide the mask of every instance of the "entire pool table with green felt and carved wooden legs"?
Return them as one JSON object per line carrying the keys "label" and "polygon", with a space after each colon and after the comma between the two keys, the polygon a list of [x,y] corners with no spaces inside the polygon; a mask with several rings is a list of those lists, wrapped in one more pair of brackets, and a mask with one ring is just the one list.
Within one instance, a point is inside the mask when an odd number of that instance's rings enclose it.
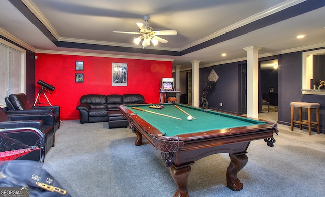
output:
{"label": "entire pool table with green felt and carved wooden legs", "polygon": [[[264,139],[273,146],[277,125],[244,116],[177,104],[121,105],[122,114],[137,135],[135,144],[142,145],[144,136],[156,149],[177,185],[174,196],[188,196],[187,179],[191,165],[206,156],[229,153],[227,185],[234,191],[243,188],[237,173],[246,165],[250,141]],[[158,113],[158,114],[156,114]],[[187,114],[186,114],[187,113]],[[188,115],[192,120],[188,120]],[[171,117],[168,117],[171,116]]]}

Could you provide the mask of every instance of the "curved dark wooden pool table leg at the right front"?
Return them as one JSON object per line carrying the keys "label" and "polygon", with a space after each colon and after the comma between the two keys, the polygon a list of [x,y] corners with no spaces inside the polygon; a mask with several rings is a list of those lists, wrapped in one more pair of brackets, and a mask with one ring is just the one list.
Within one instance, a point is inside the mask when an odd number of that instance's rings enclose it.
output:
{"label": "curved dark wooden pool table leg at the right front", "polygon": [[233,155],[229,154],[230,164],[227,169],[227,185],[233,191],[240,191],[243,189],[243,183],[238,179],[237,173],[244,168],[248,162],[246,154]]}

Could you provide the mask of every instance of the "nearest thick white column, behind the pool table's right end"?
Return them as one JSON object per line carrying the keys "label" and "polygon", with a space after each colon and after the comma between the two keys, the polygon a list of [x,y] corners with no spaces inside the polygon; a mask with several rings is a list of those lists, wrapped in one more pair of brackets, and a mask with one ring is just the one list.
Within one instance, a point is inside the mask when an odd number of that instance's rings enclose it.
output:
{"label": "nearest thick white column, behind the pool table's right end", "polygon": [[261,48],[244,48],[247,51],[247,116],[252,118],[258,118],[258,51]]}

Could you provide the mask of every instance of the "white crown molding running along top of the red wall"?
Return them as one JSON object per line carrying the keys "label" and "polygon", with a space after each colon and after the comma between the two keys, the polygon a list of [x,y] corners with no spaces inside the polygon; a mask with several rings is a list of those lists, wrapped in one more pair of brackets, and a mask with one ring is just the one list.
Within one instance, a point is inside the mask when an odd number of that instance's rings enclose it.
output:
{"label": "white crown molding running along top of the red wall", "polygon": [[112,55],[112,54],[100,54],[100,53],[71,52],[71,51],[37,50],[35,53],[77,55],[77,56],[91,56],[91,57],[110,57],[110,58],[120,58],[120,59],[141,59],[141,60],[154,60],[154,61],[174,61],[174,59],[169,59],[169,58],[139,57],[139,56],[131,56],[131,55]]}

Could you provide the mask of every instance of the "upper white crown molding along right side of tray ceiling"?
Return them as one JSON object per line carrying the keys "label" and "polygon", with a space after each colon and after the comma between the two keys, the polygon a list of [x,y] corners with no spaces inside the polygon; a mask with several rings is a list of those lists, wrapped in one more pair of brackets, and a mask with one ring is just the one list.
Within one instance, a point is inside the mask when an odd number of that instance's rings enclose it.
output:
{"label": "upper white crown molding along right side of tray ceiling", "polygon": [[237,28],[242,27],[242,26],[244,26],[246,24],[252,23],[252,22],[254,22],[256,20],[262,19],[264,17],[267,17],[269,15],[272,15],[272,14],[274,14],[276,12],[279,12],[281,10],[284,10],[286,8],[289,8],[291,6],[294,6],[294,5],[299,4],[301,2],[304,2],[304,1],[306,1],[306,0],[289,0],[289,1],[285,1],[285,2],[283,2],[281,4],[273,6],[273,7],[269,8],[269,9],[267,9],[267,10],[264,10],[262,12],[259,12],[259,13],[255,14],[255,15],[252,15],[252,16],[244,19],[244,20],[241,20],[241,21],[239,21],[239,22],[237,22],[237,23],[235,23],[233,25],[230,25],[230,26],[228,26],[228,27],[226,27],[224,29],[221,29],[220,31],[215,32],[214,34],[211,34],[211,35],[209,35],[207,37],[204,37],[204,38],[202,38],[200,40],[197,40],[196,42],[193,42],[193,43],[190,43],[190,44],[188,44],[188,45],[186,45],[184,47],[181,47],[180,51],[183,51],[183,50],[188,49],[190,47],[196,46],[198,44],[201,44],[203,42],[206,42],[208,40],[211,40],[213,38],[221,36],[221,35],[223,35],[223,34],[225,34],[227,32],[230,32],[230,31],[232,31],[234,29],[237,29]]}

